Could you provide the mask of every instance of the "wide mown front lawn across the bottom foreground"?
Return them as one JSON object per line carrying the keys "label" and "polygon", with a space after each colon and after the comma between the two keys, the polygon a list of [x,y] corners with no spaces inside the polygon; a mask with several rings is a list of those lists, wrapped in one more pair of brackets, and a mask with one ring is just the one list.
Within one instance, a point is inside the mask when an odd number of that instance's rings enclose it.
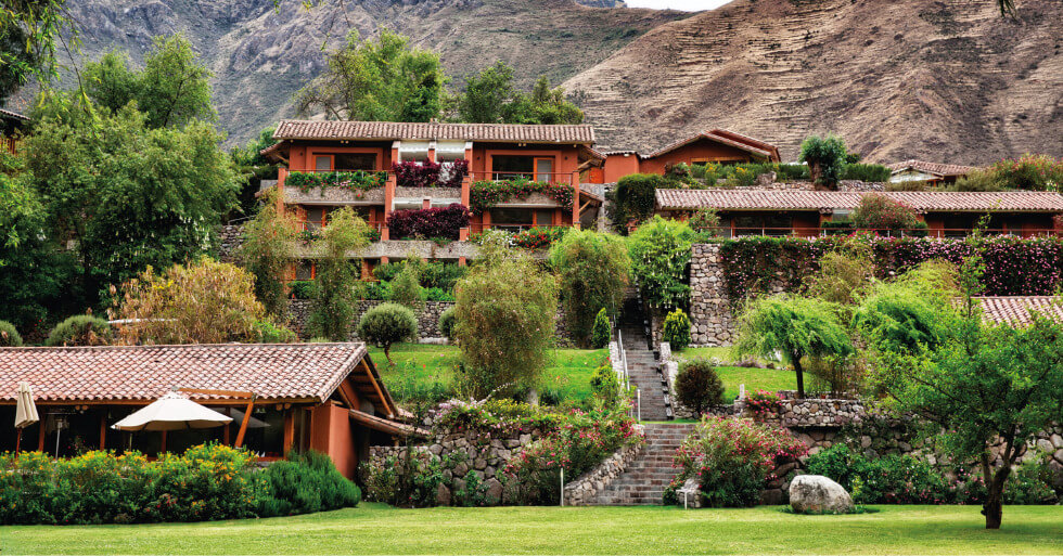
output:
{"label": "wide mown front lawn across the bottom foreground", "polygon": [[778,507],[396,509],[207,523],[4,527],[3,554],[1059,554],[1063,507],[876,506],[849,516]]}

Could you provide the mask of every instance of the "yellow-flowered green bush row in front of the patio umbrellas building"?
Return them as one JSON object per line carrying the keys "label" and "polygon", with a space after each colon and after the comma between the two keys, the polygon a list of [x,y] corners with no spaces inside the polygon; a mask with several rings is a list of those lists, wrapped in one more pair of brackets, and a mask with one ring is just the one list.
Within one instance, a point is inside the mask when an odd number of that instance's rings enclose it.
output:
{"label": "yellow-flowered green bush row in front of the patio umbrellas building", "polygon": [[[190,448],[181,455],[163,454],[155,461],[139,452],[92,451],[65,460],[41,452],[8,452],[0,454],[0,500],[4,501],[0,522],[271,517],[355,505],[360,497],[358,487],[338,476],[325,456],[279,462],[274,465],[282,467],[276,471],[264,471],[254,461],[252,452],[216,443]],[[290,479],[295,482],[274,490],[274,482]],[[315,499],[321,503],[312,503]]]}

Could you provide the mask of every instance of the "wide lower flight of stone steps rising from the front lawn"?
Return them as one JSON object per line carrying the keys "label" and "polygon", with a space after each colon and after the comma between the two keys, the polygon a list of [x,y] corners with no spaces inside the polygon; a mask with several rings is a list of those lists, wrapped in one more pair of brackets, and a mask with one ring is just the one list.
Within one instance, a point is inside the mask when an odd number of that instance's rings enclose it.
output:
{"label": "wide lower flight of stone steps rising from the front lawn", "polygon": [[662,504],[665,488],[679,473],[671,466],[676,449],[693,428],[693,423],[646,424],[645,448],[590,503],[598,506]]}

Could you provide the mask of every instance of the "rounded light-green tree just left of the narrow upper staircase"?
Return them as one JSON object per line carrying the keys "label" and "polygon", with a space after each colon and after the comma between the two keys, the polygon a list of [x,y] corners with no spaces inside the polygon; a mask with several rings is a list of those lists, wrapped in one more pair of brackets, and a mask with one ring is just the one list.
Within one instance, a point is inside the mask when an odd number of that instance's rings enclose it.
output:
{"label": "rounded light-green tree just left of the narrow upper staircase", "polygon": [[568,331],[586,345],[599,311],[615,313],[624,303],[631,270],[627,247],[613,234],[571,230],[550,247],[548,259],[560,281]]}

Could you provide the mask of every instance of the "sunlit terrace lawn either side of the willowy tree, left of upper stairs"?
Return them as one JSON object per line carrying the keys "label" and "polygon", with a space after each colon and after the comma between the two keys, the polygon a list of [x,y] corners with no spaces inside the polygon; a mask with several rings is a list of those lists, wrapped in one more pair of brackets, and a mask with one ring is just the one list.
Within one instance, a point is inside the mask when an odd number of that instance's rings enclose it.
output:
{"label": "sunlit terrace lawn either side of the willowy tree, left of upper stairs", "polygon": [[[407,399],[414,388],[435,388],[451,392],[454,368],[458,365],[458,348],[423,344],[398,344],[392,347],[395,366],[387,365],[384,350],[369,349],[381,378],[392,395]],[[558,390],[565,399],[584,400],[591,396],[590,377],[594,368],[609,355],[605,349],[551,350],[552,363],[543,374],[545,389]]]}

